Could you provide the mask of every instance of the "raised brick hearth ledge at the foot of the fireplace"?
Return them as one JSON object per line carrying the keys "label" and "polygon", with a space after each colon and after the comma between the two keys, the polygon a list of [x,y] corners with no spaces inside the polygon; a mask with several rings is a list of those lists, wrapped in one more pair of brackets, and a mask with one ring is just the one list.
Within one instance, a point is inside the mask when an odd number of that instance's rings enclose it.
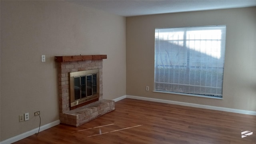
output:
{"label": "raised brick hearth ledge at the foot of the fireplace", "polygon": [[113,110],[115,110],[115,102],[113,100],[100,100],[60,113],[60,122],[78,127]]}

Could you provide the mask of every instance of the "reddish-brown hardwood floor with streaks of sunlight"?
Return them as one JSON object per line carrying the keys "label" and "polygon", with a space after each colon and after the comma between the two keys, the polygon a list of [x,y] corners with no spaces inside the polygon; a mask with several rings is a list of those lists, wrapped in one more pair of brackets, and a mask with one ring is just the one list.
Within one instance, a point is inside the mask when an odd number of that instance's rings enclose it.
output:
{"label": "reddish-brown hardwood floor with streaks of sunlight", "polygon": [[256,144],[256,116],[128,98],[115,104],[78,128],[59,124],[14,144]]}

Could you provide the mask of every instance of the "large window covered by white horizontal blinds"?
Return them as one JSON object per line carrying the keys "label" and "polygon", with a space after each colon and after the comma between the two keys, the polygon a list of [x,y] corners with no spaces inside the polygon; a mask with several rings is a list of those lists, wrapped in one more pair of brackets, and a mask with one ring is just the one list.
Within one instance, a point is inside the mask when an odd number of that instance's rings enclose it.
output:
{"label": "large window covered by white horizontal blinds", "polygon": [[226,26],[155,29],[154,91],[222,98]]}

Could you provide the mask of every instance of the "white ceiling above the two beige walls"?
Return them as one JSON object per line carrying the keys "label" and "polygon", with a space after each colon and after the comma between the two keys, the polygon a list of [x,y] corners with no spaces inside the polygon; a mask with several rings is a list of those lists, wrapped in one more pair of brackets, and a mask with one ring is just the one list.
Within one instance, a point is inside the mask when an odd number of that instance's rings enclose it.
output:
{"label": "white ceiling above the two beige walls", "polygon": [[120,16],[256,6],[256,0],[67,0]]}

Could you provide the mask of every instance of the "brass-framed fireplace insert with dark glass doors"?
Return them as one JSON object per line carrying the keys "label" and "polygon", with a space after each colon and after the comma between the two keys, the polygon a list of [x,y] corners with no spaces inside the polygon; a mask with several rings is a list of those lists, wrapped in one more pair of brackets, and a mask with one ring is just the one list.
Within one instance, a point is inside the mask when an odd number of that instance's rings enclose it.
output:
{"label": "brass-framed fireplace insert with dark glass doors", "polygon": [[70,110],[99,98],[99,69],[70,72]]}

